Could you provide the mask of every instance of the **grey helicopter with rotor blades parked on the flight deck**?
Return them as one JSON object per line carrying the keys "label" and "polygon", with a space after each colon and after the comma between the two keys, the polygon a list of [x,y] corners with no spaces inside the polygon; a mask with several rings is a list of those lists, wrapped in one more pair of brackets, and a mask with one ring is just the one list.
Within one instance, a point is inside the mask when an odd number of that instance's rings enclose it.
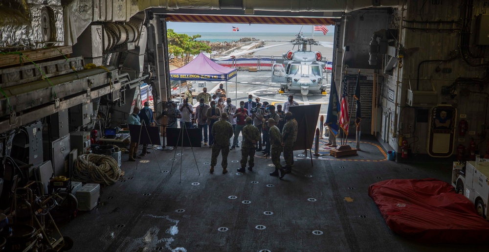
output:
{"label": "grey helicopter with rotor blades parked on the flight deck", "polygon": [[[302,95],[309,92],[323,93],[327,90],[327,81],[323,77],[326,62],[321,62],[322,55],[319,51],[311,51],[312,46],[325,46],[333,48],[331,42],[318,42],[311,38],[306,38],[302,33],[295,35],[295,38],[287,41],[286,44],[265,46],[252,49],[233,56],[228,55],[213,59],[214,61],[230,60],[239,55],[252,53],[273,46],[297,45],[297,50],[289,50],[282,54],[283,63],[272,64],[271,81],[280,84],[281,93],[285,91],[300,91]],[[308,50],[309,46],[309,50]]]}

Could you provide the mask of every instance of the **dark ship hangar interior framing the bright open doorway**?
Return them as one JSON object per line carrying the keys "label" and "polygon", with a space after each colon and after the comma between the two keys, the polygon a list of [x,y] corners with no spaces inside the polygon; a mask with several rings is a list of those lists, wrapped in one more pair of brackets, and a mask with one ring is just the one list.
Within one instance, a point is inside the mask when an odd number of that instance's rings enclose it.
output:
{"label": "dark ship hangar interior framing the bright open doorway", "polygon": [[[167,22],[229,19],[334,25],[356,156],[92,144],[171,99]],[[486,46],[484,0],[2,0],[0,251],[488,251]]]}

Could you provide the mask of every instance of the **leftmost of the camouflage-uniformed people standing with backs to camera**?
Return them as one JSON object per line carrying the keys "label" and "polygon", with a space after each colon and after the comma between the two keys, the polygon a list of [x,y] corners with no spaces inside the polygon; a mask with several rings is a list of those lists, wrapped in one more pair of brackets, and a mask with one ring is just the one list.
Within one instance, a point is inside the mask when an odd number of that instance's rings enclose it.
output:
{"label": "leftmost of the camouflage-uniformed people standing with backs to camera", "polygon": [[229,154],[229,138],[233,136],[233,126],[227,121],[227,114],[222,113],[221,120],[212,126],[212,136],[214,136],[214,145],[212,145],[211,169],[214,172],[214,166],[217,164],[219,152],[222,152],[222,174],[227,173],[227,155]]}

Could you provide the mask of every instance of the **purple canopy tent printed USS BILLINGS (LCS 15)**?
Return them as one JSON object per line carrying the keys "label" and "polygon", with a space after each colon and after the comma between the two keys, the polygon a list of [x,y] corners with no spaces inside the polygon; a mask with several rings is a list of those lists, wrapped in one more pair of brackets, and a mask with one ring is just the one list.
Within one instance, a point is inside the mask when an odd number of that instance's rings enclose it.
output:
{"label": "purple canopy tent printed USS BILLINGS (LCS 15)", "polygon": [[[238,70],[226,68],[214,63],[207,58],[202,52],[187,65],[170,71],[170,80],[195,80],[195,81],[226,81],[236,77]],[[236,99],[238,99],[238,82],[236,78]],[[178,85],[181,94],[181,85]]]}

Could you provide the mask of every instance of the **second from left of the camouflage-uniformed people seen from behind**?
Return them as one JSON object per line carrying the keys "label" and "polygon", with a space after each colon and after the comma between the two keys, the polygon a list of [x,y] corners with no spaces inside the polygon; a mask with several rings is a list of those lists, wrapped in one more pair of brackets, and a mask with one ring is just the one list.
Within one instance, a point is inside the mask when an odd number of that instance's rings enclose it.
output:
{"label": "second from left of the camouflage-uniformed people seen from behind", "polygon": [[251,117],[246,117],[246,126],[243,128],[243,145],[241,146],[241,169],[238,169],[239,172],[245,171],[244,167],[248,156],[248,170],[253,171],[253,166],[255,165],[256,142],[260,140],[260,131],[255,125],[251,124],[252,122],[253,119]]}

